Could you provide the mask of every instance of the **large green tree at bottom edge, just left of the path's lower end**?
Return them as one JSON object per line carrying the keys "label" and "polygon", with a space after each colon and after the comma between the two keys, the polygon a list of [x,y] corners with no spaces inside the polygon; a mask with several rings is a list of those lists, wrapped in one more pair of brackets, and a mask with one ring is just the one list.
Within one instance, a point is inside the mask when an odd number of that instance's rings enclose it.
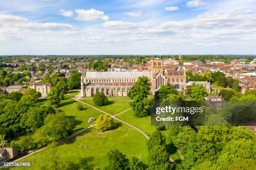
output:
{"label": "large green tree at bottom edge, just left of the path's lower end", "polygon": [[169,161],[169,153],[161,145],[154,146],[148,152],[147,170],[172,170],[173,164]]}

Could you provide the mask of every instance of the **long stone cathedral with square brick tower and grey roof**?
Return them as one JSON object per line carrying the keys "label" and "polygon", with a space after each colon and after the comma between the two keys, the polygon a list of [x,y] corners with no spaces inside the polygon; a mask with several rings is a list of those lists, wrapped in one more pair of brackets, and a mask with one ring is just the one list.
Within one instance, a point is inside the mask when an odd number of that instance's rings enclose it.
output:
{"label": "long stone cathedral with square brick tower and grey roof", "polygon": [[[179,70],[179,69],[178,69]],[[96,92],[106,96],[127,96],[138,77],[148,77],[152,95],[161,85],[186,83],[185,70],[168,71],[164,69],[164,60],[151,60],[151,71],[133,72],[84,72],[81,76],[81,97],[91,97]]]}

